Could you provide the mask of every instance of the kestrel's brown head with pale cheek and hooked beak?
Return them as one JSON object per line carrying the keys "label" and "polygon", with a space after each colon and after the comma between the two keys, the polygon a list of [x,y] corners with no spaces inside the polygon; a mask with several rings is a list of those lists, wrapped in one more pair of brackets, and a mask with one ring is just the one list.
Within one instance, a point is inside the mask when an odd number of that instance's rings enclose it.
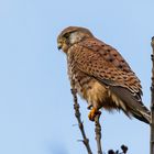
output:
{"label": "kestrel's brown head with pale cheek and hooked beak", "polygon": [[63,50],[63,52],[67,53],[67,50],[82,41],[84,38],[94,36],[91,32],[86,28],[79,26],[68,26],[64,29],[57,37],[57,47],[58,50]]}

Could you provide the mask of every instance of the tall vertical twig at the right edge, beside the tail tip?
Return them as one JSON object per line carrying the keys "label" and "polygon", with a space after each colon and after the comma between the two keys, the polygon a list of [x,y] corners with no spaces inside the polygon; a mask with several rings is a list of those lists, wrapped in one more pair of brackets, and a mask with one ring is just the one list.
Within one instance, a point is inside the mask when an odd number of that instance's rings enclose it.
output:
{"label": "tall vertical twig at the right edge, beside the tail tip", "polygon": [[152,86],[151,86],[151,114],[152,114],[152,123],[151,123],[151,154],[154,154],[154,36],[152,37]]}

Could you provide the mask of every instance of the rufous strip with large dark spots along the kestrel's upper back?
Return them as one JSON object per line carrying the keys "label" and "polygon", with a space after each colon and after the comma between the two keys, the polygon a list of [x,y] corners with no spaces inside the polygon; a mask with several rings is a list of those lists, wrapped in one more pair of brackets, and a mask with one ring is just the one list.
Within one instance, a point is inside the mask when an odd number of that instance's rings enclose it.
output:
{"label": "rufous strip with large dark spots along the kestrel's upper back", "polygon": [[[135,76],[129,64],[116,48],[94,37],[85,40],[80,43],[80,45],[82,47],[97,52],[103,58],[103,61],[112,65],[118,70],[121,70],[123,73],[123,77],[125,78],[124,80],[127,82],[130,82],[130,85],[125,85],[142,95],[140,79]],[[124,73],[127,73],[130,77],[125,77]]]}

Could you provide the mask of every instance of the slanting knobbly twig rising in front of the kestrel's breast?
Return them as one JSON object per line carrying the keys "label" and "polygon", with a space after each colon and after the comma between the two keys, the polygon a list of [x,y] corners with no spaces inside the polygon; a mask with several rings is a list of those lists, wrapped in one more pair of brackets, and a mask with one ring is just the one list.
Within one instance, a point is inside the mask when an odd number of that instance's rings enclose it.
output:
{"label": "slanting knobbly twig rising in front of the kestrel's breast", "polygon": [[86,136],[84,124],[82,124],[81,119],[80,119],[79,105],[77,101],[77,90],[75,88],[73,88],[72,94],[74,97],[75,116],[77,118],[78,127],[79,127],[79,130],[80,130],[81,135],[82,135],[82,143],[86,146],[88,154],[92,154],[90,145],[89,145],[89,139]]}

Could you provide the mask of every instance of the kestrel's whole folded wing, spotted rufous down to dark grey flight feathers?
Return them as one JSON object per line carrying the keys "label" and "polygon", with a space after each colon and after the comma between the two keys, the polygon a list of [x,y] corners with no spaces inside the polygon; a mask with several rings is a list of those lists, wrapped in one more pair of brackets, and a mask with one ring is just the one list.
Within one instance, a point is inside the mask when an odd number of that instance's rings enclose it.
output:
{"label": "kestrel's whole folded wing, spotted rufous down to dark grey flight feathers", "polygon": [[[97,44],[97,41],[94,41],[94,44]],[[141,100],[140,80],[127,62],[110,46],[108,46],[108,51],[103,48],[103,44],[102,46],[99,44],[96,48],[89,46],[92,46],[92,44],[88,43],[86,45],[86,43],[81,43],[75,48],[72,47],[73,61],[76,67],[97,79],[100,84],[106,85],[132,110],[132,114],[135,118],[148,123],[150,112]],[[108,56],[112,55],[112,50],[117,56],[110,61]],[[107,55],[103,55],[103,52]],[[109,55],[108,52],[110,53]]]}

